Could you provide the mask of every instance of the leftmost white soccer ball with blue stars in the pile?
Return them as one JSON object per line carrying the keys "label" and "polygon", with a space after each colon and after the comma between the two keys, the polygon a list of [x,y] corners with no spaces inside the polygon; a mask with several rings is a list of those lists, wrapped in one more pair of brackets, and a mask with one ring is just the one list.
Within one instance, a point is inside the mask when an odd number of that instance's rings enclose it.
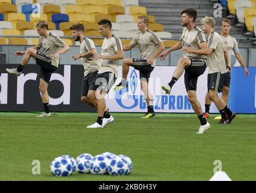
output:
{"label": "leftmost white soccer ball with blue stars in the pile", "polygon": [[53,176],[71,176],[73,174],[72,167],[70,158],[59,156],[51,162],[51,174],[53,174]]}

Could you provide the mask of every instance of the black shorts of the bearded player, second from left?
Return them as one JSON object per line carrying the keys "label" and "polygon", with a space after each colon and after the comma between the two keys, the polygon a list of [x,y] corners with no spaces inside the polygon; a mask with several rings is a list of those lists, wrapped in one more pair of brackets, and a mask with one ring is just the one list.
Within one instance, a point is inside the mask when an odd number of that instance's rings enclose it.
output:
{"label": "black shorts of the bearded player, second from left", "polygon": [[87,96],[89,90],[94,90],[97,73],[98,71],[91,72],[83,78],[81,85],[81,96]]}

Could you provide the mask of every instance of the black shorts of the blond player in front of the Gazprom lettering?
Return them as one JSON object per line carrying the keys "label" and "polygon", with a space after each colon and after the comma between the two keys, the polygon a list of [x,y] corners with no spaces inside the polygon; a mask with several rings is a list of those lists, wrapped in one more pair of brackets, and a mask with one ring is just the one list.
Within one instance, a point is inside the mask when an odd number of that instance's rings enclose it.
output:
{"label": "black shorts of the blond player in front of the Gazprom lettering", "polygon": [[147,82],[149,81],[150,74],[154,70],[154,67],[148,65],[146,60],[133,59],[133,65],[131,66],[140,72],[140,80],[144,79]]}

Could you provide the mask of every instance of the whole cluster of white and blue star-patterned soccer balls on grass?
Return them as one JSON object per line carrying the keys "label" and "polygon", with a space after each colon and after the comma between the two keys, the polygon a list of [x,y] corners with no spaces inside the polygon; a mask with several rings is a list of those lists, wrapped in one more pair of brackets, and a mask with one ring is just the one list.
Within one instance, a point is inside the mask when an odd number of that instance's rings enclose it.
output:
{"label": "whole cluster of white and blue star-patterned soccer balls on grass", "polygon": [[54,176],[71,176],[80,174],[110,174],[113,176],[122,176],[130,174],[133,169],[133,162],[130,157],[125,155],[115,155],[105,152],[97,156],[84,153],[76,159],[69,155],[56,157],[51,162],[51,173]]}

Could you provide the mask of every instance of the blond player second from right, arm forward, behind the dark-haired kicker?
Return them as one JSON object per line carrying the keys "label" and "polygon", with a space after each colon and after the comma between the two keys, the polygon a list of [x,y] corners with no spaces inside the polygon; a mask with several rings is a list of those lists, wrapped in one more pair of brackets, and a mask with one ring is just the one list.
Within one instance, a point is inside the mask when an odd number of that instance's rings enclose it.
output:
{"label": "blond player second from right, arm forward, behind the dark-haired kicker", "polygon": [[208,92],[209,98],[214,102],[220,115],[222,115],[222,124],[231,123],[232,119],[235,118],[235,113],[233,113],[225,101],[218,96],[218,86],[220,83],[220,75],[231,70],[229,66],[228,54],[224,54],[223,40],[218,33],[214,31],[215,19],[213,17],[205,17],[202,19],[202,29],[209,36],[208,48],[206,49],[183,49],[184,53],[201,54],[208,55],[209,71],[208,71]]}

